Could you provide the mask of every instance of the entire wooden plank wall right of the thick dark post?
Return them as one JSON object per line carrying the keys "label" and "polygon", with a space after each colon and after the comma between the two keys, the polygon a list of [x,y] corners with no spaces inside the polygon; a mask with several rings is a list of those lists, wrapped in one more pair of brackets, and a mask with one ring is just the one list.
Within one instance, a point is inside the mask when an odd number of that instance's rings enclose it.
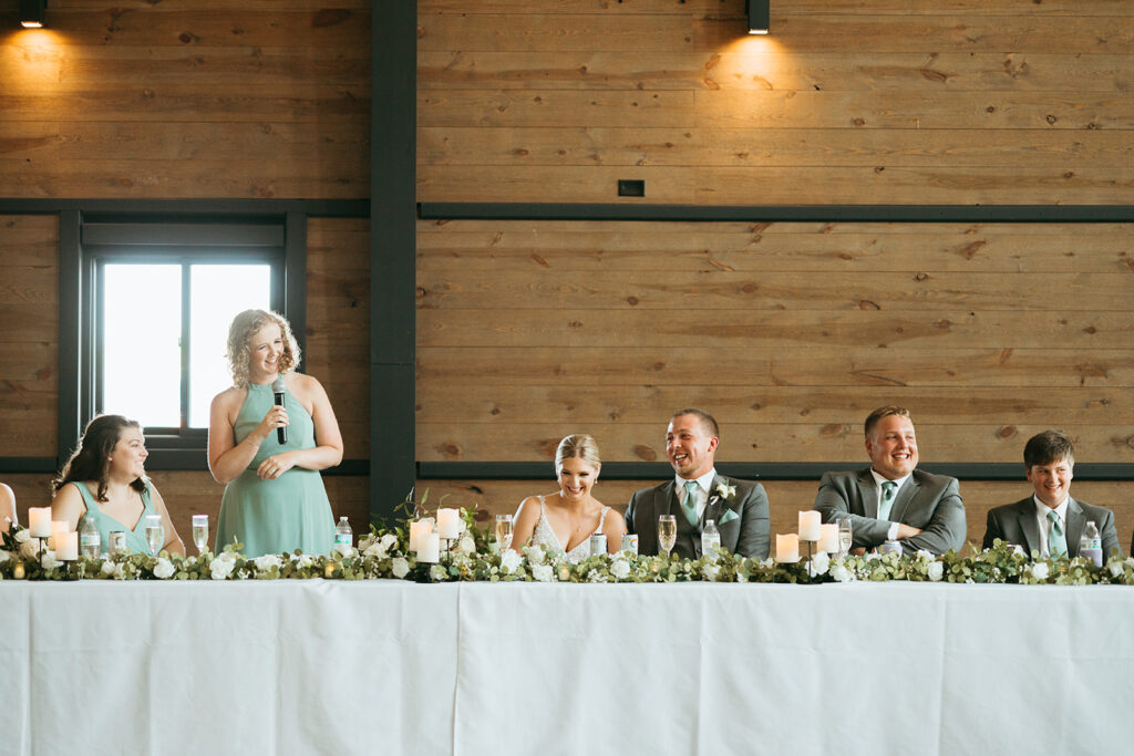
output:
{"label": "entire wooden plank wall right of the thick dark post", "polygon": [[[1134,204],[1134,6],[421,0],[418,198]],[[645,180],[618,198],[616,180]],[[924,461],[1021,461],[1047,427],[1134,461],[1126,224],[418,224],[422,460],[663,460],[701,405],[720,459],[864,460],[882,404]],[[507,511],[549,483],[422,481]],[[636,485],[606,484],[624,504]],[[794,529],[815,482],[767,484]],[[1026,483],[964,484],[970,538]],[[1078,483],[1129,543],[1128,484]]]}

